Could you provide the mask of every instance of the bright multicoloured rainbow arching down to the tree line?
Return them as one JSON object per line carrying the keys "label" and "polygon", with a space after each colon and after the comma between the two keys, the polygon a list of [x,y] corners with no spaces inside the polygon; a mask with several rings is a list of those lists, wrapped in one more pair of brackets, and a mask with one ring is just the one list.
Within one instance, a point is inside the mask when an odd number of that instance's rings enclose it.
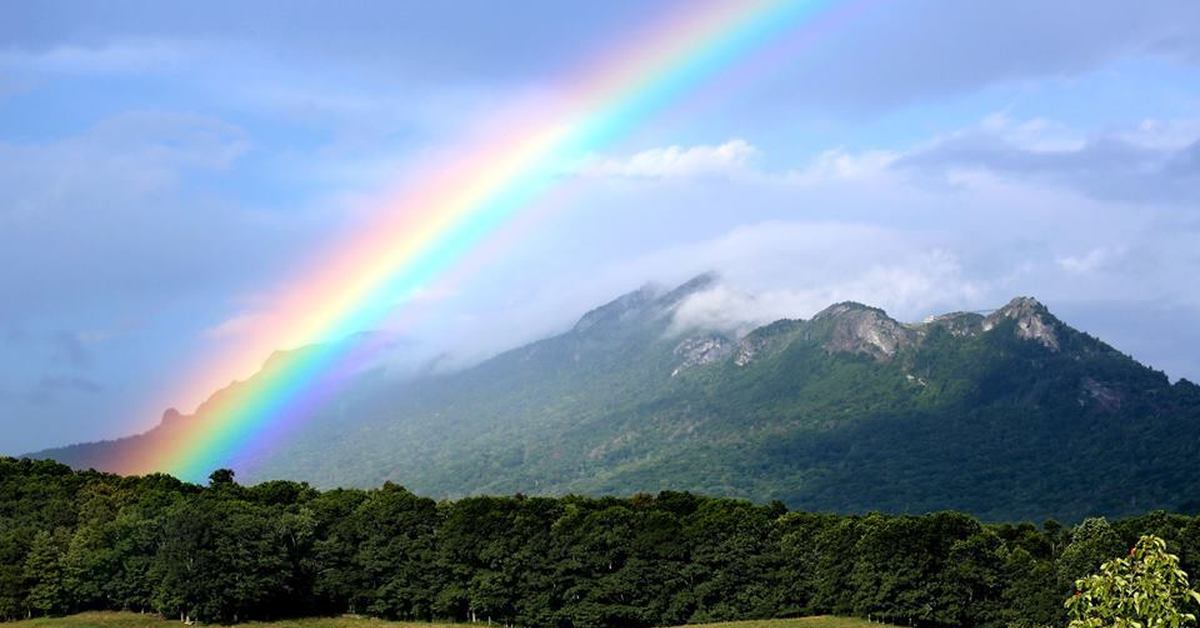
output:
{"label": "bright multicoloured rainbow arching down to the tree line", "polygon": [[169,438],[122,451],[110,468],[199,480],[254,460],[353,370],[368,351],[358,334],[394,316],[590,155],[739,62],[816,29],[829,5],[683,2],[688,14],[559,82],[553,104],[518,107],[479,125],[481,132],[448,151],[454,157],[433,174],[406,186],[356,235],[299,273],[274,299],[274,313],[252,325],[253,341],[199,365],[190,381],[210,387],[274,348],[307,348],[272,360],[253,385],[215,396],[202,419]]}

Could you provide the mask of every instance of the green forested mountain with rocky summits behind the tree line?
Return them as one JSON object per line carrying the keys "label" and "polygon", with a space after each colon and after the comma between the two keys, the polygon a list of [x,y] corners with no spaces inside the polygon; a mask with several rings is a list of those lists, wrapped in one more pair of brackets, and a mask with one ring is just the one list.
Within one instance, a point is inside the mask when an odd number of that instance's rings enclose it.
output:
{"label": "green forested mountain with rocky summits behind the tree line", "polygon": [[[713,282],[631,292],[461,372],[365,377],[239,477],[431,496],[692,490],[994,520],[1200,507],[1200,387],[1032,298],[916,324],[840,303],[744,335],[679,329],[679,304]],[[35,455],[95,466],[185,420],[205,408]]]}

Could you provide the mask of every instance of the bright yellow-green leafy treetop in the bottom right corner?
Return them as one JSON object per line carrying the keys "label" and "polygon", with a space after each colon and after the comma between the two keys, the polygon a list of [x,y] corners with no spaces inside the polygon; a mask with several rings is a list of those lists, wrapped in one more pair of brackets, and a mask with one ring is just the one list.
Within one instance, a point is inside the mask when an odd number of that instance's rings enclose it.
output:
{"label": "bright yellow-green leafy treetop in the bottom right corner", "polygon": [[1166,542],[1147,534],[1129,556],[1105,562],[1098,574],[1075,581],[1067,598],[1070,628],[1178,628],[1195,626],[1200,593],[1188,586],[1188,574]]}

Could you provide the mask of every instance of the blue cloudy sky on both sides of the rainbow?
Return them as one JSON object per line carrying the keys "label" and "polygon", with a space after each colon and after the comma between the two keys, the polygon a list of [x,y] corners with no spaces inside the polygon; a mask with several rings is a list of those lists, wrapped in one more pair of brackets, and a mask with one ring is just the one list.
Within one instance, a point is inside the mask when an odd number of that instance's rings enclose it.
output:
{"label": "blue cloudy sky on both sides of the rainbow", "polygon": [[[715,269],[682,324],[1032,294],[1200,379],[1200,5],[854,5],[595,155],[517,246],[413,306],[390,364],[468,364]],[[0,453],[191,409],[163,391],[407,168],[683,11],[5,4]]]}

